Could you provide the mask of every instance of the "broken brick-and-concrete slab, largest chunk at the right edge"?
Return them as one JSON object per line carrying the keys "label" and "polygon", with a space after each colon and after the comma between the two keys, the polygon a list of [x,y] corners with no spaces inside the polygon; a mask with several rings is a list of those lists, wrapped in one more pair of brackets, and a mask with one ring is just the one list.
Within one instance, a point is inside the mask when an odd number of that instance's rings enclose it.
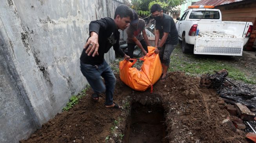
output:
{"label": "broken brick-and-concrete slab, largest chunk at the right edge", "polygon": [[250,111],[245,105],[241,103],[236,104],[236,108],[238,111],[238,116],[240,116],[243,120],[253,120],[255,117],[255,114]]}

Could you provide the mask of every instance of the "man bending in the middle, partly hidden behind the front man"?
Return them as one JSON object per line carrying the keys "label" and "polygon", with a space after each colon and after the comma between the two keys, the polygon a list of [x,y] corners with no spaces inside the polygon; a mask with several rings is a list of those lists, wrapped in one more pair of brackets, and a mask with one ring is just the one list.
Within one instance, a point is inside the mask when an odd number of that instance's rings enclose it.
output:
{"label": "man bending in the middle, partly hidden behind the front man", "polygon": [[144,55],[146,55],[148,52],[147,46],[150,46],[149,39],[147,38],[145,30],[145,21],[138,18],[138,14],[135,11],[133,11],[133,14],[134,20],[131,21],[129,27],[126,30],[128,55],[131,58],[133,58],[134,47],[136,45],[142,50]]}

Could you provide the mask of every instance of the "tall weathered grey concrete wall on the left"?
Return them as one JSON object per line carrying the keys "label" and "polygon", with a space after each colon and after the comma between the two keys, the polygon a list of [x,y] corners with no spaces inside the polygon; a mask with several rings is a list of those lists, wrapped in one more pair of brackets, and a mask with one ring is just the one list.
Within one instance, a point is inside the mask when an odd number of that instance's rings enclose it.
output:
{"label": "tall weathered grey concrete wall on the left", "polygon": [[[89,22],[125,0],[0,0],[0,142],[18,142],[85,87],[79,57]],[[121,34],[125,37],[125,34]],[[114,59],[111,49],[105,54]]]}

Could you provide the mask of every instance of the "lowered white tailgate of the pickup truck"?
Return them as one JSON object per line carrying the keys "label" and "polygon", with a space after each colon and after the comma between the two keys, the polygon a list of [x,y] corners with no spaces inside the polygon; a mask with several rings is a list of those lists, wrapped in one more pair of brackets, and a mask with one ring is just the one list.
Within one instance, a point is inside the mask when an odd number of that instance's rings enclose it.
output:
{"label": "lowered white tailgate of the pickup truck", "polygon": [[196,38],[194,54],[241,56],[243,43],[243,38]]}

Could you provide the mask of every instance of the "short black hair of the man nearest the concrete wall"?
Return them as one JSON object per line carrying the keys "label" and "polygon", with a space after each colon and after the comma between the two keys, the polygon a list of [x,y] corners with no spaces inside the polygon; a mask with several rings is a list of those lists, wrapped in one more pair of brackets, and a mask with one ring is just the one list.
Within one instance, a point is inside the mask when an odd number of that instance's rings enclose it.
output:
{"label": "short black hair of the man nearest the concrete wall", "polygon": [[118,5],[118,7],[116,7],[114,18],[116,18],[117,15],[119,15],[121,18],[129,16],[131,20],[134,19],[134,14],[132,9],[124,4]]}

